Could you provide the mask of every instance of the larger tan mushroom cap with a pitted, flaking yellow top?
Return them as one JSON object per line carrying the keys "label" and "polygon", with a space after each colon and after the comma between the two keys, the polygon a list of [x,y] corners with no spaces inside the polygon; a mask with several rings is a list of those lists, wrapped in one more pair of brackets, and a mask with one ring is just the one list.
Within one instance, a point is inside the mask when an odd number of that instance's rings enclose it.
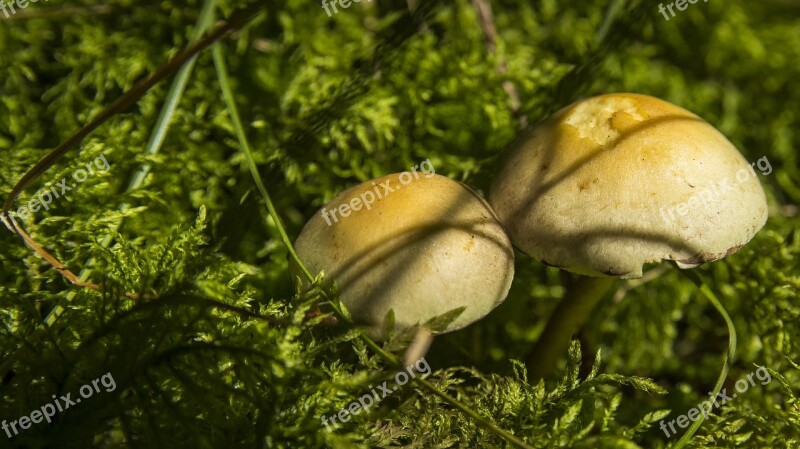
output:
{"label": "larger tan mushroom cap with a pitted, flaking yellow top", "polygon": [[734,253],[767,220],[756,172],[714,127],[666,101],[609,94],[537,125],[489,202],[530,256],[586,275],[641,277]]}

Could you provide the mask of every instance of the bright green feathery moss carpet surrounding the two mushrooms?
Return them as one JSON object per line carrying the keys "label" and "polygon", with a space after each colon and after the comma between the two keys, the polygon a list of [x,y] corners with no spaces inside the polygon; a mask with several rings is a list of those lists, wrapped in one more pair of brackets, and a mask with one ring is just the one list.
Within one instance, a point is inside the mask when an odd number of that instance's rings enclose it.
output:
{"label": "bright green feathery moss carpet surrounding the two mushrooms", "polygon": [[[699,271],[739,332],[729,391],[756,365],[774,380],[712,415],[689,447],[794,447],[797,6],[698,2],[667,22],[639,1],[609,16],[612,3],[495,1],[493,55],[466,0],[426,2],[413,17],[399,0],[353,3],[333,18],[319,4],[288,0],[221,42],[254,159],[290,236],[344,188],[428,158],[437,173],[486,189],[519,133],[504,81],[530,123],[581,96],[640,92],[696,112],[749,160],[768,156],[765,229]],[[0,13],[3,192],[187,45],[201,5],[65,6],[31,4],[14,20]],[[218,16],[238,7],[221,1]],[[600,40],[604,20],[613,22]],[[0,420],[106,372],[118,385],[17,439],[0,433],[0,446],[510,447],[411,384],[325,429],[323,415],[394,368],[357,331],[331,324],[319,292],[295,293],[209,52],[197,59],[161,150],[145,153],[168,89],[162,82],[103,124],[15,203],[107,158],[107,173],[21,220],[74,272],[90,269],[104,293],[68,285],[16,236],[0,234]],[[150,175],[128,189],[143,164]],[[706,399],[727,348],[725,325],[673,267],[618,287],[631,288],[584,329],[584,356],[573,346],[566,366],[531,385],[515,360],[563,289],[555,269],[520,256],[502,306],[435,340],[430,380],[532,447],[668,447],[677,438],[658,422]]]}

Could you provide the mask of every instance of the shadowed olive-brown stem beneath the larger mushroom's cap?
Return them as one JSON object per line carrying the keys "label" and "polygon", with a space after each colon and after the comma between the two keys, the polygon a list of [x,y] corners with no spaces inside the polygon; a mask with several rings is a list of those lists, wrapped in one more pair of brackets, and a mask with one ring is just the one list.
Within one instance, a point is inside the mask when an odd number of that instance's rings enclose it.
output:
{"label": "shadowed olive-brown stem beneath the larger mushroom's cap", "polygon": [[566,354],[572,336],[583,326],[614,280],[613,277],[577,276],[567,286],[564,298],[550,315],[528,356],[528,379],[535,381],[552,371]]}

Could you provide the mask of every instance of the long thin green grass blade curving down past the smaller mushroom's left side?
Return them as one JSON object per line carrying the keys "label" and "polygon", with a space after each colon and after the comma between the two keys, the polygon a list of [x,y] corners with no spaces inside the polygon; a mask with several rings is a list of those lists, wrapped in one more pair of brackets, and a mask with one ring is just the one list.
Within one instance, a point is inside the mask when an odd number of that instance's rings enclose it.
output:
{"label": "long thin green grass blade curving down past the smaller mushroom's left side", "polygon": [[[286,245],[289,254],[300,267],[300,270],[303,272],[303,275],[308,279],[309,282],[314,282],[314,276],[308,271],[305,264],[300,260],[300,257],[297,255],[297,252],[294,249],[294,245],[292,245],[289,236],[286,233],[286,229],[283,226],[283,222],[278,215],[278,212],[275,209],[275,205],[272,203],[272,198],[269,195],[266,187],[264,187],[264,183],[261,180],[261,175],[258,173],[258,168],[256,167],[255,160],[253,159],[253,154],[250,148],[250,144],[247,141],[247,136],[244,131],[244,126],[242,126],[241,119],[239,118],[239,112],[236,108],[236,100],[233,95],[233,89],[231,88],[230,78],[228,77],[228,69],[225,64],[225,58],[222,54],[222,46],[219,43],[215,43],[211,47],[211,55],[214,58],[214,66],[217,69],[217,77],[219,78],[220,88],[222,89],[222,96],[225,100],[225,104],[228,108],[228,113],[231,116],[231,122],[233,123],[233,127],[236,130],[236,137],[239,140],[239,146],[242,149],[242,152],[245,155],[245,159],[247,160],[247,165],[250,169],[250,174],[253,176],[253,180],[258,188],[258,191],[261,193],[262,198],[264,199],[264,203],[267,206],[267,210],[269,212],[270,217],[275,222],[275,226],[278,228],[278,232],[281,236],[281,240],[283,240],[284,245]],[[342,312],[342,310],[337,306],[334,301],[330,301],[330,298],[325,292],[325,290],[320,289],[323,297],[328,300],[331,304],[336,315],[341,319],[343,322],[347,323],[351,327],[354,327],[354,323]],[[369,338],[363,332],[359,332],[359,338],[368,346],[370,347],[375,353],[377,353],[381,358],[383,358],[386,362],[394,367],[402,367],[399,359],[395,357],[393,354],[390,354],[383,350],[374,340]],[[477,422],[481,427],[486,429],[489,432],[492,432],[498,435],[500,438],[508,441],[512,445],[521,448],[521,449],[532,449],[528,446],[524,441],[517,438],[516,436],[512,435],[507,430],[497,426],[490,420],[484,418],[483,416],[477,414],[474,410],[470,409],[466,405],[462,404],[459,400],[451,397],[447,393],[440,391],[436,386],[428,382],[425,379],[420,377],[416,377],[413,379],[416,381],[420,386],[424,389],[428,390],[432,394],[438,396],[444,402],[452,405],[453,407],[460,410],[462,413],[466,414],[475,422]]]}

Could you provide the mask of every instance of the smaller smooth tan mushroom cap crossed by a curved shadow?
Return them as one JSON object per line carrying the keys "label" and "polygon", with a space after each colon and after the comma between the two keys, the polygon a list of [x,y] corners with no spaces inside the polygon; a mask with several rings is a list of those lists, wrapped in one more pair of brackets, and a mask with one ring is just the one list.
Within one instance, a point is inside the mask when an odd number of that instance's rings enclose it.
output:
{"label": "smaller smooth tan mushroom cap crossed by a curved shadow", "polygon": [[[347,216],[322,216],[340,208]],[[306,223],[295,245],[374,335],[385,330],[390,309],[402,329],[463,306],[446,331],[460,329],[500,304],[514,275],[511,242],[489,205],[432,173],[392,174],[346,190]]]}

